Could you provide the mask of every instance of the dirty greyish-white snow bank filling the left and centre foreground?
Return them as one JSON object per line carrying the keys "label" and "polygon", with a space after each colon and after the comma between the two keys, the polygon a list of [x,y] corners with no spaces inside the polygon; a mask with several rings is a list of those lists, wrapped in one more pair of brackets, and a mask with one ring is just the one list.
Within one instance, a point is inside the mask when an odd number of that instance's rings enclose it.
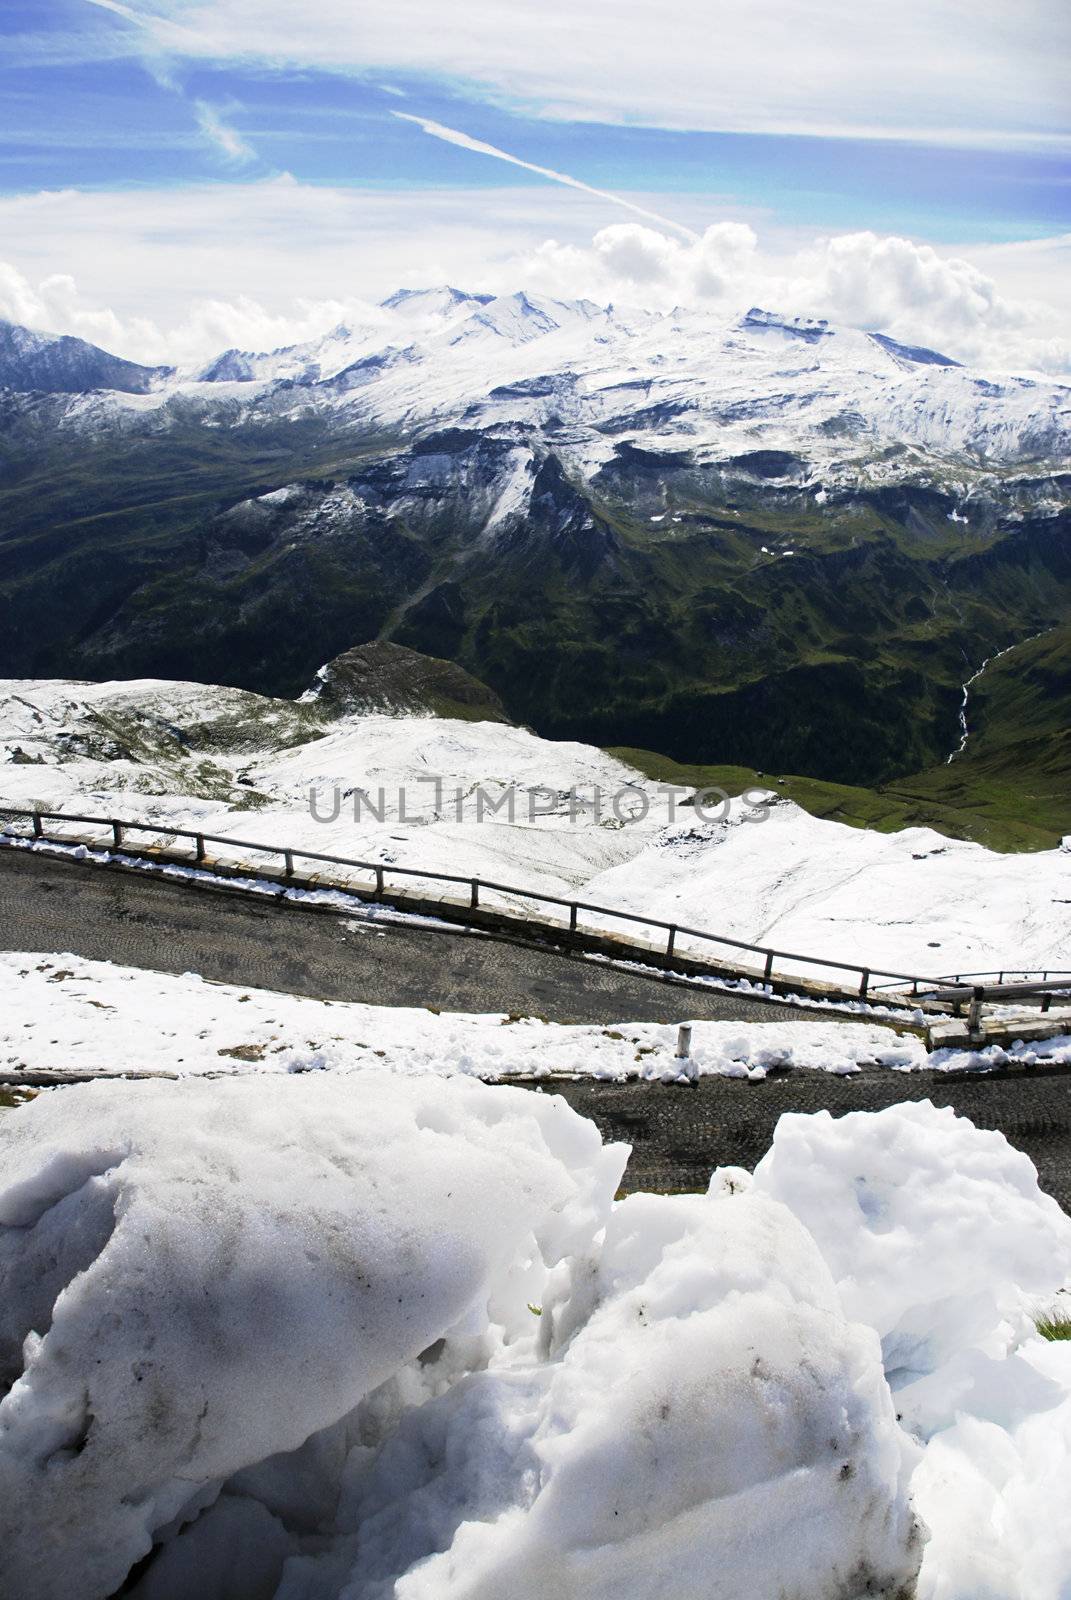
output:
{"label": "dirty greyish-white snow bank filling the left and centre foreground", "polygon": [[6,1600],[908,1594],[876,1334],[776,1202],[613,1208],[479,1083],[93,1083],[0,1117]]}

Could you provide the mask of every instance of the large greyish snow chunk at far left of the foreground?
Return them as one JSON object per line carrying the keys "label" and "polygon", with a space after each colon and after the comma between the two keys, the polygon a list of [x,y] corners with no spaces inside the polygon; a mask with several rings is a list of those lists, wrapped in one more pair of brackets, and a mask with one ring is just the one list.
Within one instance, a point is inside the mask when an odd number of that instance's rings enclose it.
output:
{"label": "large greyish snow chunk at far left of the foreground", "polygon": [[375,1074],[94,1083],[26,1112],[0,1118],[21,1600],[110,1594],[155,1531],[464,1318],[515,1336],[626,1155],[560,1101]]}

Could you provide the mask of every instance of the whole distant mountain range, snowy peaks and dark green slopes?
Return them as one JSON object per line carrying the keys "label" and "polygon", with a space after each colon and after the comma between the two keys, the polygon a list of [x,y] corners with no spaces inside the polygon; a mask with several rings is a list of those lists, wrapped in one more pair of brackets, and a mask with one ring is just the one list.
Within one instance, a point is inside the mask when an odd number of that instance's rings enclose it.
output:
{"label": "whole distant mountain range, snowy peaks and dark green slopes", "polygon": [[650,776],[1071,830],[1068,386],[451,288],[187,371],[0,325],[0,675],[296,696],[391,642]]}

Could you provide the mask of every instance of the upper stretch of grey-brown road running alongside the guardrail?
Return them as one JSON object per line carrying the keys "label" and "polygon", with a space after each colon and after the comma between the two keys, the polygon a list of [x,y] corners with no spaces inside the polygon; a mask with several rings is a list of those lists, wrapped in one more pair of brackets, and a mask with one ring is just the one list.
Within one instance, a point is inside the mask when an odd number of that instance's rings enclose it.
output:
{"label": "upper stretch of grey-brown road running alongside the guardrail", "polygon": [[0,850],[0,949],[69,950],[319,1000],[551,1022],[815,1019],[464,930],[359,922],[21,850]]}

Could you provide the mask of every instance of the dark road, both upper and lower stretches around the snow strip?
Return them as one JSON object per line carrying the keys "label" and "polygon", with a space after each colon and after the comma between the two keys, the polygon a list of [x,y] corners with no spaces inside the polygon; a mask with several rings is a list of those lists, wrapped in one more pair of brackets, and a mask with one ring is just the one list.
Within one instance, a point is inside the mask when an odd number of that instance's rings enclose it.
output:
{"label": "dark road, both upper and lower stretches around the snow strip", "polygon": [[[0,949],[69,950],[320,1000],[515,1011],[556,1022],[821,1016],[464,931],[354,923],[346,914],[303,912],[14,850],[0,850]],[[536,1085],[525,1080],[525,1088]],[[1071,1069],[959,1078],[880,1069],[853,1077],[789,1072],[760,1083],[708,1077],[690,1088],[556,1080],[544,1088],[564,1094],[605,1138],[632,1144],[626,1189],[696,1189],[712,1166],[754,1166],[784,1110],[840,1115],[932,1099],[978,1126],[1001,1128],[1071,1211]]]}

